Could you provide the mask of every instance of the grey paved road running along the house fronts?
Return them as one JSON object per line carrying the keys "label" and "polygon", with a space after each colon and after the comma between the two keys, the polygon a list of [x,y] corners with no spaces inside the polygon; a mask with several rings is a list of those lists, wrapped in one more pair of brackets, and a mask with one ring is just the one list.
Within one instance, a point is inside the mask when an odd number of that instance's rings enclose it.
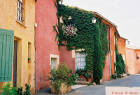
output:
{"label": "grey paved road running along the house fronts", "polygon": [[[128,76],[118,80],[104,82],[103,85],[86,86],[78,88],[67,95],[105,95],[105,87],[140,87],[140,75]],[[47,93],[47,94],[46,94]],[[36,95],[51,95],[47,91],[42,91]]]}

